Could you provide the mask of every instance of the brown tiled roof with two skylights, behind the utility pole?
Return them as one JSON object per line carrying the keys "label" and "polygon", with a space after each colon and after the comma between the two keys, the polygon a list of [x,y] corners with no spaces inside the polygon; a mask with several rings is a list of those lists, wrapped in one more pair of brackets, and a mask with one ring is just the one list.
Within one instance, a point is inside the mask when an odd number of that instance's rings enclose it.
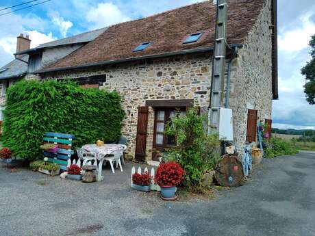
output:
{"label": "brown tiled roof with two skylights, behind the utility pole", "polygon": [[[265,0],[229,0],[227,42],[241,44],[251,31]],[[204,1],[155,14],[136,21],[112,25],[98,38],[43,71],[112,62],[127,58],[203,49],[213,46],[216,5]],[[190,34],[203,32],[192,44],[182,44]],[[153,42],[144,51],[139,44]]]}

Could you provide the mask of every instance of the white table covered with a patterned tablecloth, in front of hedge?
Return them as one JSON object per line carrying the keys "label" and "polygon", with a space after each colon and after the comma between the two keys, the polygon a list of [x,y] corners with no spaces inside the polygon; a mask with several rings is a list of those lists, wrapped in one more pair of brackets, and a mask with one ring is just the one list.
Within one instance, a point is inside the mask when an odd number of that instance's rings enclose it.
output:
{"label": "white table covered with a patterned tablecloth, in front of hedge", "polygon": [[82,149],[87,150],[89,153],[96,153],[97,159],[99,160],[97,181],[101,181],[104,179],[104,176],[102,176],[102,170],[105,156],[112,154],[116,150],[123,150],[123,145],[104,144],[103,146],[97,146],[97,144],[86,144],[82,146]]}

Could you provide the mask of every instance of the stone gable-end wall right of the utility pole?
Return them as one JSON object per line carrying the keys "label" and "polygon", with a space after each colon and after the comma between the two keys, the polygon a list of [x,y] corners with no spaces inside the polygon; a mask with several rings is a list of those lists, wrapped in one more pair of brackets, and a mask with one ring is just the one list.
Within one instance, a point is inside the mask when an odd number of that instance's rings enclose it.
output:
{"label": "stone gable-end wall right of the utility pole", "polygon": [[257,23],[232,62],[229,106],[234,112],[234,140],[238,151],[246,142],[247,109],[262,120],[271,118],[271,3],[266,1]]}

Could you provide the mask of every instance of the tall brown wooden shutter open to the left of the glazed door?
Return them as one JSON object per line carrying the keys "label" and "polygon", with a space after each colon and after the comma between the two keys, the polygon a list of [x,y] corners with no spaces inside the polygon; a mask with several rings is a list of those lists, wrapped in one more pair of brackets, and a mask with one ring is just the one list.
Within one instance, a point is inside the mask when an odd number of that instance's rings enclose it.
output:
{"label": "tall brown wooden shutter open to the left of the glazed door", "polygon": [[145,161],[145,147],[147,145],[148,114],[149,114],[149,107],[138,107],[136,152],[134,155],[137,161]]}

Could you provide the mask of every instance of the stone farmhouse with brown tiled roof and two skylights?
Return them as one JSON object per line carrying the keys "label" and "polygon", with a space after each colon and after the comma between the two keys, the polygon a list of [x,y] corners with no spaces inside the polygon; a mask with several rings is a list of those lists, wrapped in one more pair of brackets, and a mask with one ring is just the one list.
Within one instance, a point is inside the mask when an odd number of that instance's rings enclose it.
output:
{"label": "stone farmhouse with brown tiled roof and two skylights", "polygon": [[[233,110],[239,151],[256,140],[257,120],[271,123],[277,92],[277,0],[229,0],[225,107]],[[106,28],[27,78],[94,81],[123,95],[128,155],[156,160],[174,145],[166,122],[188,107],[210,105],[216,5],[204,1]],[[41,50],[19,55],[44,58]],[[0,74],[1,75],[1,74]]]}

